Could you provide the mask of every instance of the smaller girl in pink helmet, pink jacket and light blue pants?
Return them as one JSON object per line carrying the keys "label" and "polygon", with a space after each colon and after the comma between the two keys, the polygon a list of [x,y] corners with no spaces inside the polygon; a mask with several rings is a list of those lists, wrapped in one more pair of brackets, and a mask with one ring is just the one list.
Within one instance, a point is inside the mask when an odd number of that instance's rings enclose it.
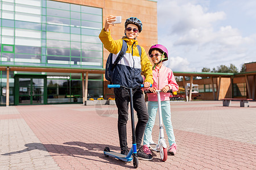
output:
{"label": "smaller girl in pink helmet, pink jacket and light blue pants", "polygon": [[147,155],[151,155],[151,151],[148,146],[150,144],[151,133],[153,126],[155,124],[155,116],[158,111],[158,97],[156,95],[156,90],[162,90],[160,94],[161,106],[162,106],[162,117],[163,123],[166,128],[166,133],[168,136],[168,142],[170,147],[168,152],[172,155],[176,154],[177,145],[174,137],[174,130],[172,129],[171,122],[171,108],[170,108],[170,93],[167,93],[168,90],[177,91],[179,90],[179,85],[176,83],[174,74],[172,70],[163,66],[163,62],[168,60],[168,50],[166,47],[160,44],[151,46],[148,51],[152,62],[154,63],[153,67],[153,79],[154,83],[152,87],[149,88],[152,94],[148,94],[148,114],[149,119],[146,125],[143,139],[143,151]]}

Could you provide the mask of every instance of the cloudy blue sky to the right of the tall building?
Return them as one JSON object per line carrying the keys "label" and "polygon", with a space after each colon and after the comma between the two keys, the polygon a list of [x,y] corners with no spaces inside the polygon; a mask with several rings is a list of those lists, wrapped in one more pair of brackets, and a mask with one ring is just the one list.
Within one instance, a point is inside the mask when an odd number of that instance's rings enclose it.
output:
{"label": "cloudy blue sky to the right of the tall building", "polygon": [[158,44],[173,71],[256,62],[255,0],[158,0]]}

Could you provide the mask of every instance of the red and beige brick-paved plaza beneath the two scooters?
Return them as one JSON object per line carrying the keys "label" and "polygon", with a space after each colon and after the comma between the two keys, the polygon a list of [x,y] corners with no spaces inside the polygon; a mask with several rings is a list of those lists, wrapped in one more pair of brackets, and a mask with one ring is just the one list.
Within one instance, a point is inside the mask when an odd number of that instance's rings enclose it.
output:
{"label": "red and beige brick-paved plaza beneath the two scooters", "polygon": [[[239,106],[171,102],[177,154],[162,162],[153,152],[138,169],[256,169],[256,102]],[[155,141],[158,130],[156,120]],[[127,136],[131,147],[130,121]],[[105,146],[119,152],[113,105],[0,107],[0,169],[133,169],[132,162],[105,158]]]}

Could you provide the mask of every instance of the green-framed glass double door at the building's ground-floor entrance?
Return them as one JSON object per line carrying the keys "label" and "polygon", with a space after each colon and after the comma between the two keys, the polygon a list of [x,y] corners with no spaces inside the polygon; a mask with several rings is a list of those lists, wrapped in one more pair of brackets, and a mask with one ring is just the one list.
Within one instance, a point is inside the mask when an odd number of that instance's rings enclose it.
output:
{"label": "green-framed glass double door at the building's ground-floor entrance", "polygon": [[17,76],[15,105],[46,104],[46,77]]}

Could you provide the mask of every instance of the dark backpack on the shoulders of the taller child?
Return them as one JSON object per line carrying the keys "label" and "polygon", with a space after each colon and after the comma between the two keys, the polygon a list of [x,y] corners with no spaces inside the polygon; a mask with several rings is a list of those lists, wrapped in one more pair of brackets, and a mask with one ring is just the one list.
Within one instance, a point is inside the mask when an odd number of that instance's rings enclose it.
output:
{"label": "dark backpack on the shoulders of the taller child", "polygon": [[[139,56],[141,57],[141,46],[137,45],[137,48],[139,50]],[[109,54],[109,57],[106,61],[106,69],[105,69],[105,78],[106,80],[108,80],[110,82],[110,84],[112,84],[112,75],[114,73],[114,68],[115,66],[117,66],[117,63],[123,58],[123,56],[125,56],[127,50],[127,42],[125,40],[123,40],[123,44],[122,44],[122,48],[117,56],[117,58],[115,59],[114,63],[112,62],[112,58],[113,58],[113,53]]]}

